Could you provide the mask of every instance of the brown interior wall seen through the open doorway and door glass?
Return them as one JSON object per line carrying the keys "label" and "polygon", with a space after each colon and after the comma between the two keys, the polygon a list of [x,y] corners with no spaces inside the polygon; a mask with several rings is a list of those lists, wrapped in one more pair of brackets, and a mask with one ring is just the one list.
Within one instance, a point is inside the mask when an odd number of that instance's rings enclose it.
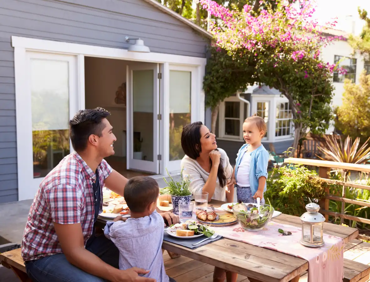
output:
{"label": "brown interior wall seen through the open doorway and door glass", "polygon": [[[117,138],[114,156],[126,154],[126,108],[115,103],[116,92],[126,82],[127,65],[137,66],[142,62],[130,62],[107,58],[85,57],[85,108],[102,107],[110,111],[109,122]],[[144,82],[143,82],[144,83]],[[153,127],[148,126],[150,113],[135,111],[134,132],[140,132],[143,139],[141,150],[144,159],[153,159]],[[152,114],[151,114],[152,115]],[[151,122],[152,124],[152,122]]]}

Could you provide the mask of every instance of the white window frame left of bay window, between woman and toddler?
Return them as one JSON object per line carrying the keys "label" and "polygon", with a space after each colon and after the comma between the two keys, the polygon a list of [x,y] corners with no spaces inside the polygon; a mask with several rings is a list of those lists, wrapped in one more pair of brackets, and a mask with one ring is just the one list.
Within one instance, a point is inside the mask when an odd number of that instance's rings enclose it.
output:
{"label": "white window frame left of bay window, between woman and toddler", "polygon": [[[239,136],[225,134],[225,102],[239,102]],[[243,122],[244,122],[244,102],[236,96],[231,96],[220,103],[219,119],[218,119],[218,138],[224,140],[240,141],[243,140]],[[248,114],[248,113],[247,113]],[[237,118],[235,118],[237,120]]]}

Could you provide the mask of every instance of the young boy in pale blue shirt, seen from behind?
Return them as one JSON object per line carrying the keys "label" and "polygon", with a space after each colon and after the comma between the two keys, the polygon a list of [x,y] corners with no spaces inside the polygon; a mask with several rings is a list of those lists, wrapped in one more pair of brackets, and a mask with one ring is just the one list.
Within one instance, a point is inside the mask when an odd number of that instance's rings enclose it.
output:
{"label": "young boy in pale blue shirt, seen from behind", "polygon": [[126,220],[118,216],[107,222],[104,234],[120,251],[120,269],[148,269],[149,273],[144,277],[158,282],[175,282],[164,269],[162,242],[165,223],[155,211],[158,195],[158,183],[152,177],[132,177],[124,190],[131,218]]}

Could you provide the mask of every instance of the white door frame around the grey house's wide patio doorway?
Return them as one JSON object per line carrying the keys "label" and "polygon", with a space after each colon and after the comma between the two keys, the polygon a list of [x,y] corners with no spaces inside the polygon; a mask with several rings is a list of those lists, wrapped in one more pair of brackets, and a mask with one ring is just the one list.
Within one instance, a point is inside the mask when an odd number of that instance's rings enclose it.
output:
{"label": "white door frame around the grey house's wide patio doorway", "polygon": [[[65,54],[65,55],[75,55],[77,58],[77,75],[75,77],[77,81],[77,93],[78,93],[78,106],[80,109],[85,108],[85,72],[84,72],[84,56],[90,57],[100,57],[100,58],[111,58],[118,60],[127,60],[127,61],[140,61],[140,62],[154,62],[158,64],[163,64],[162,73],[163,79],[169,75],[169,64],[171,65],[183,65],[191,66],[196,68],[196,81],[195,81],[195,95],[193,99],[192,95],[192,121],[199,120],[204,123],[205,119],[205,95],[203,91],[203,77],[205,74],[205,65],[206,58],[199,57],[190,57],[183,55],[173,55],[173,54],[164,54],[164,53],[139,53],[139,52],[130,52],[125,49],[118,48],[109,48],[109,47],[100,47],[86,44],[76,44],[76,43],[67,43],[51,40],[42,40],[36,38],[27,38],[12,36],[11,44],[14,47],[14,70],[15,70],[15,84],[16,84],[16,120],[17,120],[17,158],[18,158],[18,198],[26,199],[33,198],[34,194],[37,191],[38,187],[31,187],[30,182],[33,179],[33,167],[27,164],[29,156],[32,156],[32,143],[25,144],[21,146],[22,140],[26,135],[27,130],[31,129],[31,123],[29,121],[23,120],[21,114],[24,112],[24,109],[28,108],[27,111],[30,111],[30,93],[28,85],[25,83],[27,79],[26,71],[26,53],[28,51],[36,52],[47,52],[53,54]],[[168,106],[164,107],[163,96],[168,96],[169,84],[164,83],[163,89],[161,89],[161,114],[163,117],[168,116]],[[28,98],[27,98],[28,95]],[[27,100],[28,99],[28,100]],[[194,107],[193,107],[194,105]],[[161,124],[161,137],[164,137],[166,140],[163,129],[166,126],[162,126],[164,120],[162,119]],[[28,137],[29,139],[29,137]],[[31,140],[31,139],[30,139]],[[165,173],[165,156],[168,156],[168,149],[164,148],[164,142],[161,142],[160,146],[162,160],[160,162],[160,172],[161,174]],[[28,156],[28,157],[27,157]],[[32,163],[31,163],[32,164]],[[180,169],[180,168],[179,168]],[[42,179],[40,179],[41,181]],[[27,192],[28,191],[28,192]],[[27,195],[30,196],[25,196]]]}

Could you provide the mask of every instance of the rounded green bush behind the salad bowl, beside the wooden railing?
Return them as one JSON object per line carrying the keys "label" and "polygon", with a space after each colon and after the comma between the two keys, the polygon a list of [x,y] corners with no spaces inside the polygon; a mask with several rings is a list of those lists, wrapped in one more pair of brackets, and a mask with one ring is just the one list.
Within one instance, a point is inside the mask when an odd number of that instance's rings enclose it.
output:
{"label": "rounded green bush behind the salad bowl, beside the wooden railing", "polygon": [[268,188],[264,197],[272,199],[271,204],[275,210],[295,216],[306,212],[309,198],[321,200],[327,187],[316,171],[299,164],[273,169],[266,183]]}

